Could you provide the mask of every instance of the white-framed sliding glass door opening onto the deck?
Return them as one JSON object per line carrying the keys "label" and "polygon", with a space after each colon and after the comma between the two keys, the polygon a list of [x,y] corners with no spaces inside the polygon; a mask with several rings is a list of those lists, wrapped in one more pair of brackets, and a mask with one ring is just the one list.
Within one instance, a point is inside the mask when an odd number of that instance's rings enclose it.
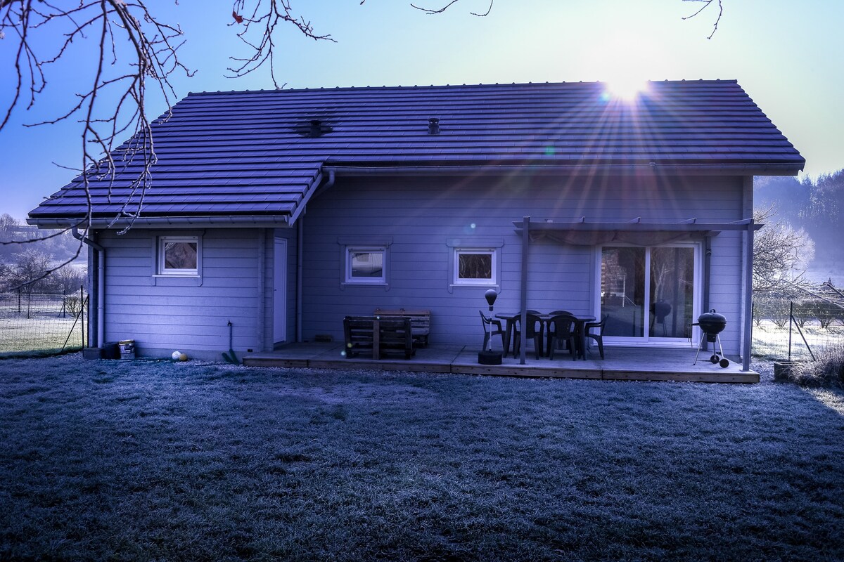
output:
{"label": "white-framed sliding glass door opening onto the deck", "polygon": [[600,314],[604,337],[618,343],[687,342],[698,298],[698,249],[674,246],[604,246]]}

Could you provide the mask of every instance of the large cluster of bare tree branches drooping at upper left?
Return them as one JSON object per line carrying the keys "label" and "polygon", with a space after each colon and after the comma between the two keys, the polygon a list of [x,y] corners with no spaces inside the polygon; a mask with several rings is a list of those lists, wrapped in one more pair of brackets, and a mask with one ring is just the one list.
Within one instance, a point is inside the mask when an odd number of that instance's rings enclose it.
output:
{"label": "large cluster of bare tree branches drooping at upper left", "polygon": [[[0,35],[17,40],[14,60],[16,88],[4,108],[0,131],[8,126],[13,111],[29,92],[31,108],[48,84],[47,69],[67,56],[72,45],[94,42],[95,62],[90,85],[76,95],[76,103],[54,118],[28,126],[43,126],[64,120],[78,120],[83,188],[89,202],[91,179],[108,179],[141,158],[141,172],[131,181],[130,195],[122,201],[115,217],[130,218],[131,226],[143,206],[143,193],[149,187],[150,169],[155,163],[150,119],[147,114],[148,86],[151,84],[170,106],[176,92],[170,76],[181,70],[192,72],[179,62],[176,51],[181,46],[181,29],[156,19],[146,7],[146,0],[82,0],[73,8],[64,8],[46,0],[0,0]],[[90,37],[89,37],[90,35]],[[63,41],[51,53],[36,49],[51,37]],[[89,57],[85,57],[89,59]],[[111,101],[116,99],[116,103]],[[125,136],[133,140],[121,145]]]}

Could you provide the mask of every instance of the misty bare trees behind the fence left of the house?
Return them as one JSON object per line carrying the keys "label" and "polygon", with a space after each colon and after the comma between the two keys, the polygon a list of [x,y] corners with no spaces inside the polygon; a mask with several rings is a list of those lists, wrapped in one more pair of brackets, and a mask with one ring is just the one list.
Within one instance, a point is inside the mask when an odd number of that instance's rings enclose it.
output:
{"label": "misty bare trees behind the fence left of the house", "polygon": [[[69,231],[38,230],[0,215],[0,292],[73,294],[85,284],[79,241]],[[85,255],[83,252],[82,256]]]}

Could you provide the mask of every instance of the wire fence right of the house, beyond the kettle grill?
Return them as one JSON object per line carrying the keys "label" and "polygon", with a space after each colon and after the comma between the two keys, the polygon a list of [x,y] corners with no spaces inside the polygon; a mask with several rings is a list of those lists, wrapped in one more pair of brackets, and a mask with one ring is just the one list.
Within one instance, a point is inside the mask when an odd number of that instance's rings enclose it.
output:
{"label": "wire fence right of the house, beyond the kettle grill", "polygon": [[754,299],[752,345],[757,357],[813,361],[844,347],[844,308],[813,297],[759,295]]}

